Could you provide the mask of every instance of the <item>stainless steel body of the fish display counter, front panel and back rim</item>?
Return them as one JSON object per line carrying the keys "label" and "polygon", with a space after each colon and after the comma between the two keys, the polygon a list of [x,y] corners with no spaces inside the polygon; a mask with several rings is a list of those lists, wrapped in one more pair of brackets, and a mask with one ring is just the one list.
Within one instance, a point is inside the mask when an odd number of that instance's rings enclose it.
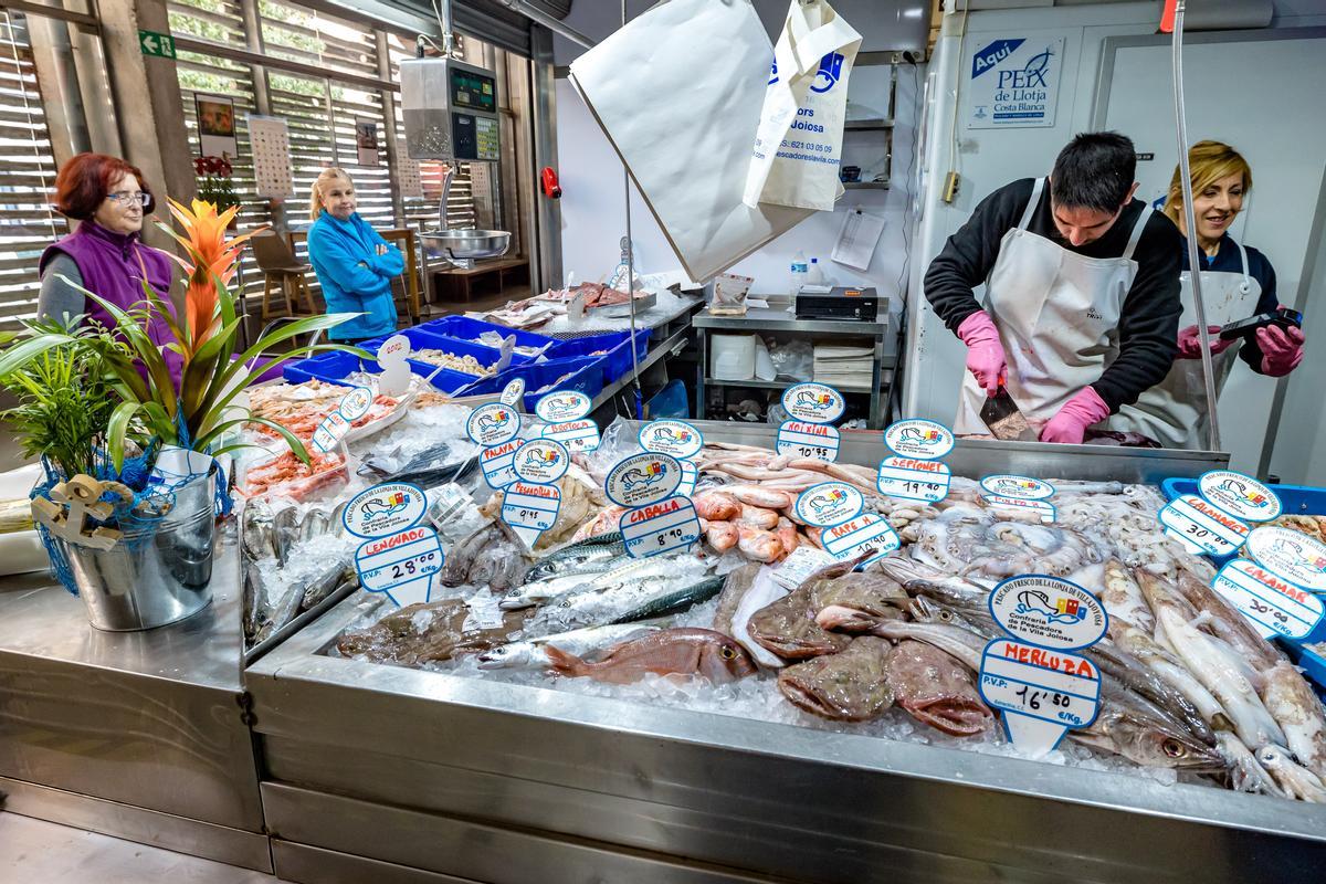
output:
{"label": "stainless steel body of the fish display counter, front panel and back rim", "polygon": [[[772,447],[772,429],[699,424]],[[879,433],[845,433],[874,465]],[[1216,455],[960,443],[955,474],[1156,482]],[[296,881],[1319,881],[1326,806],[329,656],[245,673]]]}

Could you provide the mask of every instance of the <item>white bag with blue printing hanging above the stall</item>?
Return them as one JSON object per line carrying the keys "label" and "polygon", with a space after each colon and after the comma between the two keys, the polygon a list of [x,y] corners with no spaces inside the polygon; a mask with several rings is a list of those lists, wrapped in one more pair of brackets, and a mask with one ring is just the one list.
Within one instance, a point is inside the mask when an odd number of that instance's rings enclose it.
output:
{"label": "white bag with blue printing hanging above the stall", "polygon": [[847,76],[861,34],[825,0],[792,0],[764,95],[744,201],[833,211],[843,195]]}

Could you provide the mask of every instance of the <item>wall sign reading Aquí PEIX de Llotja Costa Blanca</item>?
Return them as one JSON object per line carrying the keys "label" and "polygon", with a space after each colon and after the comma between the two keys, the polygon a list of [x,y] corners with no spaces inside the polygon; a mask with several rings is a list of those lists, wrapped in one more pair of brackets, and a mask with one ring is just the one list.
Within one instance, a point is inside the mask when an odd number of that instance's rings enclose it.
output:
{"label": "wall sign reading Aqu\u00ed PEIX de Llotja Costa Blanca", "polygon": [[1063,37],[1013,37],[976,44],[964,90],[967,129],[1053,126]]}

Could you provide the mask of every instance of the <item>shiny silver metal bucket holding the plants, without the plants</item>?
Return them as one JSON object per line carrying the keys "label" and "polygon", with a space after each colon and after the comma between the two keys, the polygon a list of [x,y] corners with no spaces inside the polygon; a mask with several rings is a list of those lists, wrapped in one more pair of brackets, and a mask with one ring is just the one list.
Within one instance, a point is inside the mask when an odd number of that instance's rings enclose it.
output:
{"label": "shiny silver metal bucket holding the plants, without the plants", "polygon": [[179,485],[175,506],[160,522],[125,531],[109,550],[56,538],[94,627],[151,630],[198,614],[212,602],[215,482],[213,470]]}

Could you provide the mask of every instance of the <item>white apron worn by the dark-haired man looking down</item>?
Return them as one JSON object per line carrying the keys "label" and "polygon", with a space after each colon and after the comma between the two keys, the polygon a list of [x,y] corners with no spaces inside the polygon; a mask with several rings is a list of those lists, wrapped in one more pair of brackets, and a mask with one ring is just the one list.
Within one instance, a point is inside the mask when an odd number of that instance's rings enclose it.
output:
{"label": "white apron worn by the dark-haired man looking down", "polygon": [[[1152,211],[1138,217],[1122,257],[1083,257],[1026,229],[1045,180],[1037,179],[1022,220],[1000,240],[985,284],[985,311],[1008,360],[1008,392],[1040,424],[1119,354],[1119,314],[1138,274],[1132,252]],[[975,375],[964,372],[955,432],[991,432],[980,419],[985,399]]]}

